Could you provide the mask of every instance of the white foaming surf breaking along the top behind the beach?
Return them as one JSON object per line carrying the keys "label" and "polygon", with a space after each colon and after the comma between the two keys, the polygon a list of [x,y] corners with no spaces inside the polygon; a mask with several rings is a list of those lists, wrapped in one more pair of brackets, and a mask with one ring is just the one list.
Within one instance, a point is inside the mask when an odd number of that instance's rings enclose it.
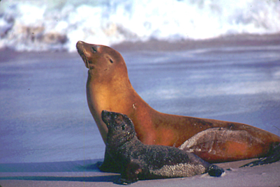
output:
{"label": "white foaming surf breaking along the top behind the beach", "polygon": [[17,51],[75,51],[78,40],[111,45],[279,31],[277,0],[0,2],[0,48]]}

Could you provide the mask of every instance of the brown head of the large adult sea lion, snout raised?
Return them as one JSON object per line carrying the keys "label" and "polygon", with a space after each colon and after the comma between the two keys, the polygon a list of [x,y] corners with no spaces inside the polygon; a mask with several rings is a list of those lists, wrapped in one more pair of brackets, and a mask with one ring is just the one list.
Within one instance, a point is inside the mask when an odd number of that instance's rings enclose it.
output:
{"label": "brown head of the large adult sea lion, snout raised", "polygon": [[113,79],[127,75],[124,58],[115,49],[82,41],[78,41],[76,47],[91,76]]}

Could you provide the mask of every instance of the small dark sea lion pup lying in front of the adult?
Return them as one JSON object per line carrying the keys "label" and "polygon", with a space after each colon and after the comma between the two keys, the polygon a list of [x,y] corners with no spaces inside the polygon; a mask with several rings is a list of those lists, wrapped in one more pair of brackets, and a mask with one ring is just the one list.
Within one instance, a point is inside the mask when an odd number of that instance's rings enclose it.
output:
{"label": "small dark sea lion pup lying in front of the adult", "polygon": [[224,172],[177,147],[141,143],[133,122],[124,114],[102,111],[102,120],[108,127],[105,154],[110,154],[117,163],[124,184],[138,179],[191,177],[205,172],[220,177]]}

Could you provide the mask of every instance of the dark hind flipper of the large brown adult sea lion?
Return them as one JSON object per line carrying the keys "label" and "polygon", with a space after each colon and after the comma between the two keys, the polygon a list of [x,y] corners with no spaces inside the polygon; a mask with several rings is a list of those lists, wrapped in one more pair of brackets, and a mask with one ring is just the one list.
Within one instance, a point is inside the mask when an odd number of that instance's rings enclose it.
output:
{"label": "dark hind flipper of the large brown adult sea lion", "polygon": [[242,165],[242,167],[250,166],[253,167],[255,165],[264,165],[267,163],[274,163],[280,161],[280,143],[273,147],[272,151],[270,151],[269,156],[265,158],[260,158],[258,161],[253,161],[251,163],[247,163],[245,165]]}

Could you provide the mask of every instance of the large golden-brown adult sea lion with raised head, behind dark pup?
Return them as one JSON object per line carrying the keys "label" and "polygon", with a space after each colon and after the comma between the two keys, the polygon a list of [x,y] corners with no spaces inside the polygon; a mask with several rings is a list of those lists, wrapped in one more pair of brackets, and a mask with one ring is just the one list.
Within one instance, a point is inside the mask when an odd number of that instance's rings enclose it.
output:
{"label": "large golden-brown adult sea lion with raised head, behind dark pup", "polygon": [[126,63],[118,51],[82,41],[76,47],[89,68],[87,102],[104,142],[108,128],[101,111],[107,110],[131,118],[142,143],[180,147],[209,163],[260,157],[270,163],[280,159],[279,136],[248,124],[155,111],[131,86]]}

